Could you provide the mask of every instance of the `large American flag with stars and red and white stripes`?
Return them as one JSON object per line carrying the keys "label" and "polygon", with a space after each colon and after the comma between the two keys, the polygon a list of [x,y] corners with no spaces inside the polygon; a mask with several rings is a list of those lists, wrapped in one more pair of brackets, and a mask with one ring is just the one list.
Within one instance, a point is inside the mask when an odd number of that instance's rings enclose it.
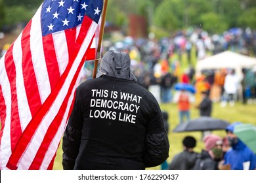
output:
{"label": "large American flag with stars and red and white stripes", "polygon": [[45,0],[0,60],[1,169],[53,169],[103,0]]}

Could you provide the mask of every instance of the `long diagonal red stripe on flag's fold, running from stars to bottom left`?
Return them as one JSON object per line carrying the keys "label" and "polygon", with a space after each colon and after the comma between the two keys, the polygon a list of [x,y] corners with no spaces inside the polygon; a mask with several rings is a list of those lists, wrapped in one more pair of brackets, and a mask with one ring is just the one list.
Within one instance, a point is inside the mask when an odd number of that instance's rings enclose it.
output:
{"label": "long diagonal red stripe on flag's fold, running from stars to bottom left", "polygon": [[18,144],[16,144],[16,148],[12,152],[11,157],[9,158],[9,162],[7,163],[7,167],[9,169],[14,169],[15,167],[17,167],[19,159],[22,157],[22,154],[26,150],[26,147],[32,140],[32,137],[33,137],[34,133],[36,132],[37,127],[39,126],[39,124],[41,124],[41,120],[49,111],[49,108],[51,107],[54,100],[56,99],[58,92],[60,92],[60,89],[62,88],[62,86],[68,76],[68,73],[70,72],[72,64],[74,63],[74,60],[79,52],[81,44],[83,43],[85,36],[87,35],[87,32],[89,31],[89,29],[91,27],[92,21],[93,20],[91,20],[91,18],[88,18],[87,16],[85,16],[85,18],[83,19],[83,22],[85,22],[85,23],[81,25],[79,37],[77,38],[77,42],[75,44],[78,46],[75,46],[74,54],[72,54],[72,56],[73,56],[72,61],[70,61],[68,63],[66,70],[64,71],[63,75],[60,78],[60,81],[58,82],[58,84],[56,85],[54,90],[51,92],[49,97],[47,97],[45,103],[43,103],[42,107],[39,109],[37,114],[35,116],[33,116],[32,120],[27,125],[24,132],[22,133],[22,136],[20,137]]}

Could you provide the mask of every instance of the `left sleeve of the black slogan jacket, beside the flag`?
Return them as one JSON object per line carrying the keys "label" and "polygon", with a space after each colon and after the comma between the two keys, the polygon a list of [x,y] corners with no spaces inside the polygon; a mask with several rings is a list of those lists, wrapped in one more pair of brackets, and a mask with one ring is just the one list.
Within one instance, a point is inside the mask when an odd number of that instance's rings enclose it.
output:
{"label": "left sleeve of the black slogan jacket, beside the flag", "polygon": [[62,166],[64,170],[73,170],[75,159],[79,152],[81,141],[81,124],[83,122],[82,113],[79,106],[79,99],[75,97],[74,108],[68,120],[62,139]]}

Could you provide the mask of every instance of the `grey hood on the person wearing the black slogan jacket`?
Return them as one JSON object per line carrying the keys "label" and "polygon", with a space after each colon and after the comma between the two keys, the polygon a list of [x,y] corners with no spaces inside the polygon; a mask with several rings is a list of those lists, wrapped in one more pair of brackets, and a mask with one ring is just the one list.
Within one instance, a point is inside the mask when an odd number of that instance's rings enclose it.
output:
{"label": "grey hood on the person wearing the black slogan jacket", "polygon": [[96,77],[99,78],[102,75],[137,82],[137,78],[131,73],[131,58],[125,52],[115,52],[114,50],[106,52],[100,62]]}

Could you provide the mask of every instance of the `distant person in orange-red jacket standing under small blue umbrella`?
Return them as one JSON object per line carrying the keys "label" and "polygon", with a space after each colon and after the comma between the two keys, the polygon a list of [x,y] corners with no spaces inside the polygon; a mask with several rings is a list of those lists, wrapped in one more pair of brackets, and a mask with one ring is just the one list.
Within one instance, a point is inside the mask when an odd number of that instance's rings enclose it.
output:
{"label": "distant person in orange-red jacket standing under small blue umbrella", "polygon": [[190,119],[190,104],[194,103],[195,97],[185,90],[177,91],[173,96],[173,102],[178,104],[180,124]]}

